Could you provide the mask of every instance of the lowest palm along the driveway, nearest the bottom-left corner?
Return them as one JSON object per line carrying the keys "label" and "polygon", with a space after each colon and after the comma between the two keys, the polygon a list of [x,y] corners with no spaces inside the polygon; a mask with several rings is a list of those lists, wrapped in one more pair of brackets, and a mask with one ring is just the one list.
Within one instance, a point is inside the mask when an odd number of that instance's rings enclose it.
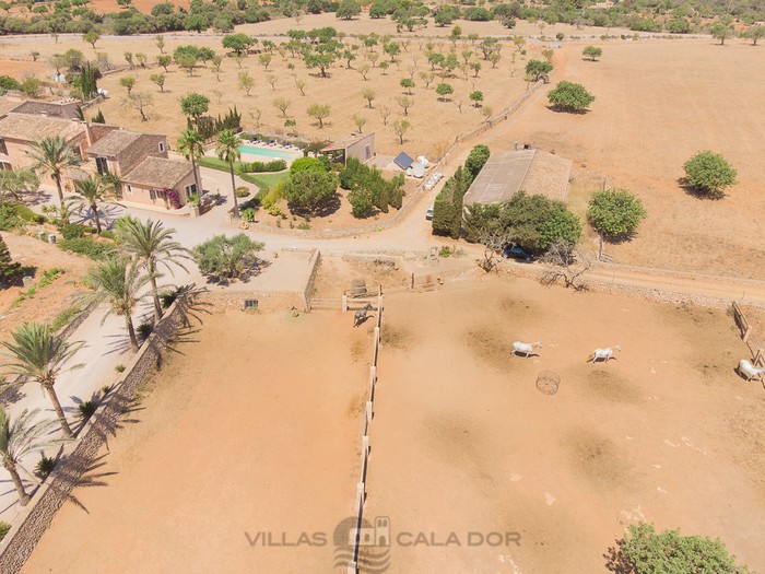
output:
{"label": "lowest palm along the driveway, nearest the bottom-left corner", "polygon": [[15,420],[11,420],[5,409],[0,405],[0,459],[11,481],[19,493],[19,504],[26,506],[30,495],[24,489],[24,483],[19,475],[21,459],[31,453],[42,450],[49,442],[43,442],[43,435],[50,429],[50,421],[32,422],[37,418],[39,410],[27,411],[24,409]]}

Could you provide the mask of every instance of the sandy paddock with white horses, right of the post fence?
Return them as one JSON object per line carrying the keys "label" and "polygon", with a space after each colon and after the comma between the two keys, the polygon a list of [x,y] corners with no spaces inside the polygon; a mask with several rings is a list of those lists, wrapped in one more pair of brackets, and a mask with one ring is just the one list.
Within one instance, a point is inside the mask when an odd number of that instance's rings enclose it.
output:
{"label": "sandy paddock with white horses, right of the post fence", "polygon": [[[514,340],[543,348],[511,358]],[[763,570],[765,397],[733,373],[744,353],[723,312],[523,280],[387,297],[365,516],[390,518],[388,572],[607,572],[638,519]]]}

